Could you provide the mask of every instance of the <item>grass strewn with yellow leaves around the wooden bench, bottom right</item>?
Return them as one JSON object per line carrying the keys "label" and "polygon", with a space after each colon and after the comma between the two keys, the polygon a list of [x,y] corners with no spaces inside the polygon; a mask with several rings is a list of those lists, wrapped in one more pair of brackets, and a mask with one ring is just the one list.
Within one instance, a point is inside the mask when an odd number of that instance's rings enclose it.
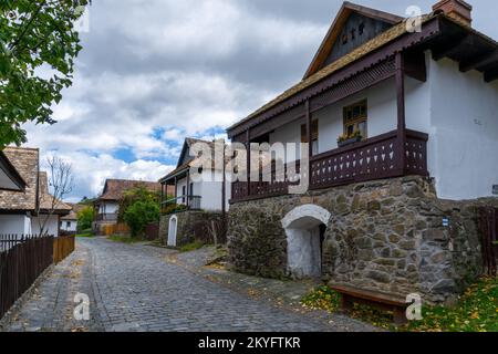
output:
{"label": "grass strewn with yellow leaves around the wooden bench, bottom right", "polygon": [[[317,288],[302,298],[310,309],[336,312],[341,295],[328,287]],[[394,326],[392,313],[355,304],[351,316],[397,332],[498,332],[498,278],[483,278],[467,289],[455,306],[424,306],[423,320]]]}

